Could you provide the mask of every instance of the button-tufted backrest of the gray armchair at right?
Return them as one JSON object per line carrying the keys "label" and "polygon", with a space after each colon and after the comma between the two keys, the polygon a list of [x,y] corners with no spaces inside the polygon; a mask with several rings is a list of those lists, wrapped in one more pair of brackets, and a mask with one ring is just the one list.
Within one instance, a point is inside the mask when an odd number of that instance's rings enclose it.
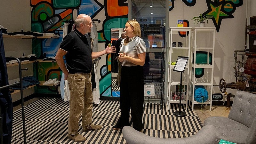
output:
{"label": "button-tufted backrest of the gray armchair at right", "polygon": [[250,128],[247,143],[256,141],[256,95],[237,91],[228,118]]}

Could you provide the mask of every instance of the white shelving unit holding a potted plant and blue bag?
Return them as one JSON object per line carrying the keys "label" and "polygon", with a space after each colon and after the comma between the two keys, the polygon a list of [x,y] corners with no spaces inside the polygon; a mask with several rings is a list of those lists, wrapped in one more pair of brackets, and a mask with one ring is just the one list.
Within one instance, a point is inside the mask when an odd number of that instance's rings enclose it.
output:
{"label": "white shelving unit holding a potted plant and blue bag", "polygon": [[[215,44],[215,29],[216,27],[195,27],[192,29],[192,45],[190,59],[190,90],[189,90],[189,105],[194,104],[210,105],[212,111],[212,84],[213,84],[213,65],[214,65],[214,44]],[[207,53],[207,60],[204,63],[196,63],[196,52]],[[210,55],[212,54],[212,58]],[[194,58],[194,59],[193,59]],[[210,62],[211,61],[211,62]],[[204,75],[196,78],[196,68],[204,68]],[[197,102],[195,100],[195,85],[202,85],[208,92],[208,99],[205,102]]]}

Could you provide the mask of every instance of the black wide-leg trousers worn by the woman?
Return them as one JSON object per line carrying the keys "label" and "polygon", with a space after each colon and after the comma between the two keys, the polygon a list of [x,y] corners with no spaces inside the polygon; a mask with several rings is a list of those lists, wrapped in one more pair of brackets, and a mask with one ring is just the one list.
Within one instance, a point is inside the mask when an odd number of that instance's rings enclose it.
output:
{"label": "black wide-leg trousers worn by the woman", "polygon": [[119,124],[129,125],[131,109],[132,127],[141,131],[142,113],[144,104],[144,73],[142,66],[122,66],[120,84],[120,109]]}

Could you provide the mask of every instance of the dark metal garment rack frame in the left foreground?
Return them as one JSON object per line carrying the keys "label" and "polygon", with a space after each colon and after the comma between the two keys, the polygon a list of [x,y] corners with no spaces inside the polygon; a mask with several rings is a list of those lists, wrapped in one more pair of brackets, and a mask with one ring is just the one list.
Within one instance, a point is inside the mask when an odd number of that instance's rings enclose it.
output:
{"label": "dark metal garment rack frame in the left foreground", "polygon": [[[25,112],[24,112],[23,85],[22,85],[21,70],[28,70],[28,68],[21,69],[20,60],[19,60],[18,58],[16,58],[16,57],[6,57],[6,58],[8,58],[8,59],[13,59],[13,60],[17,60],[17,61],[18,61],[18,64],[19,64],[19,76],[20,76],[20,81],[19,81],[19,82],[15,82],[15,83],[13,83],[13,84],[8,84],[8,85],[5,85],[5,86],[2,86],[2,87],[0,87],[0,90],[1,90],[1,89],[5,89],[5,88],[8,88],[8,87],[11,87],[11,86],[14,86],[14,85],[20,84],[20,98],[21,98],[21,110],[22,110],[23,135],[24,135],[24,144],[26,144],[26,143],[27,143],[27,140],[26,140]],[[1,107],[0,107],[0,111],[1,111]],[[0,139],[1,139],[1,144],[4,144],[4,142],[3,142],[3,124],[2,124],[3,118],[2,118],[2,116],[0,116],[0,120],[1,120],[1,125],[0,125]]]}

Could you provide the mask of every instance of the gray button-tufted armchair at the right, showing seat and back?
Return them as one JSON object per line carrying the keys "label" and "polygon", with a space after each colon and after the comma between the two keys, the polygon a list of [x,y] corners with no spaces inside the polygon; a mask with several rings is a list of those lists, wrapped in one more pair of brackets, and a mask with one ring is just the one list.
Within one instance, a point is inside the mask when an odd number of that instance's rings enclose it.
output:
{"label": "gray button-tufted armchair at the right, showing seat and back", "polygon": [[237,91],[227,117],[212,116],[204,125],[213,125],[220,139],[239,144],[256,144],[256,95]]}

